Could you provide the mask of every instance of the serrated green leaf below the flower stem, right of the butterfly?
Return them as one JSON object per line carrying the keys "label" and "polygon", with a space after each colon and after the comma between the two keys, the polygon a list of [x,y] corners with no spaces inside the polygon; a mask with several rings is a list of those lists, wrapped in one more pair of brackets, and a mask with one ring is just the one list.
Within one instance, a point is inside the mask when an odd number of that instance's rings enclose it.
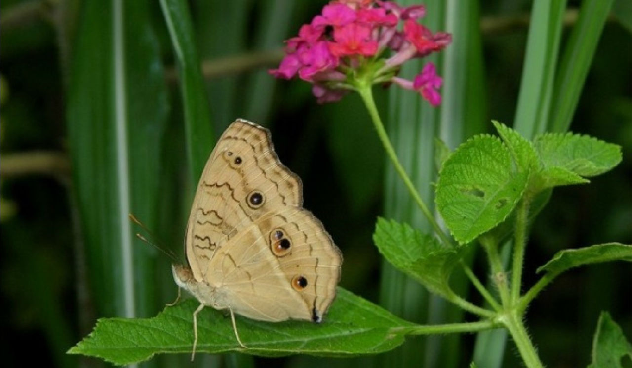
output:
{"label": "serrated green leaf below the flower stem, right of the butterfly", "polygon": [[444,297],[452,295],[448,280],[459,253],[406,223],[377,219],[373,240],[386,260],[428,290]]}

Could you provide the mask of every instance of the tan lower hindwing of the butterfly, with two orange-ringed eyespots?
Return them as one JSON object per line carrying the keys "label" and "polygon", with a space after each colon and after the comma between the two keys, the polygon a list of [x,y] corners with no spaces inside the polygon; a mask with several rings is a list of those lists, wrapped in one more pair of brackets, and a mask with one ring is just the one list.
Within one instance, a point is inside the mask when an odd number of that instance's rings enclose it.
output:
{"label": "tan lower hindwing of the butterfly, with two orange-ringed eyespots", "polygon": [[336,295],[342,255],[310,212],[284,207],[217,251],[210,286],[220,308],[264,321],[320,322]]}

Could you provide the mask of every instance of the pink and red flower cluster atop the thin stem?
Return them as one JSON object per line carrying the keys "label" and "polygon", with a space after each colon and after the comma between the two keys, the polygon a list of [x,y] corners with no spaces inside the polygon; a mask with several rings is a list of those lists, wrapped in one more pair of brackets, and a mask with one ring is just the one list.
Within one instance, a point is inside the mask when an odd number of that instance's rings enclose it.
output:
{"label": "pink and red flower cluster atop the thin stem", "polygon": [[[355,90],[358,81],[368,80],[415,90],[436,106],[441,103],[437,90],[442,79],[434,64],[426,64],[413,81],[396,77],[405,61],[441,51],[452,40],[451,34],[433,34],[417,23],[424,15],[422,5],[404,8],[392,1],[332,1],[322,15],[300,28],[298,37],[286,41],[285,58],[269,73],[286,79],[298,75],[312,83],[320,103],[338,101]],[[392,56],[382,58],[388,50],[394,51]]]}

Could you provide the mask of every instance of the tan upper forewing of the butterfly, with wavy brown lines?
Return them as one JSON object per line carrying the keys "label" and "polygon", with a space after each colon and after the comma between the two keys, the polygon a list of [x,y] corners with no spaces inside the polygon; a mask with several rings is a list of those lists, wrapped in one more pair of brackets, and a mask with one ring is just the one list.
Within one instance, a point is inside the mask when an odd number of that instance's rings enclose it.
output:
{"label": "tan upper forewing of the butterfly, with wavy brown lines", "polygon": [[214,253],[238,231],[302,201],[300,178],[279,162],[270,132],[234,121],[211,152],[191,205],[185,252],[195,279],[204,279]]}

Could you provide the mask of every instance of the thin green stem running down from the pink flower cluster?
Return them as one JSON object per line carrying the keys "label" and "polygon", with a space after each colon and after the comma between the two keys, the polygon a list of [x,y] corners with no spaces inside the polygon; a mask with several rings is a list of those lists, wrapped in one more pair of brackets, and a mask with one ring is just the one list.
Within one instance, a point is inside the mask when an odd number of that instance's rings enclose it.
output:
{"label": "thin green stem running down from the pink flower cluster", "polygon": [[403,166],[401,166],[401,163],[399,163],[399,158],[391,145],[391,140],[389,140],[389,136],[387,135],[386,130],[384,129],[384,124],[382,123],[382,119],[380,119],[380,114],[377,111],[377,106],[375,106],[375,101],[373,99],[373,90],[370,83],[358,82],[356,84],[356,89],[362,97],[364,104],[367,106],[368,114],[371,116],[371,120],[373,121],[375,130],[377,130],[377,135],[382,141],[382,145],[384,145],[387,156],[389,156],[389,159],[391,159],[393,166],[395,166],[395,170],[404,181],[404,185],[406,185],[406,188],[408,188],[408,192],[410,192],[410,194],[413,196],[416,204],[422,210],[424,216],[426,216],[428,222],[430,223],[432,228],[434,228],[434,231],[437,233],[437,235],[439,235],[441,241],[444,242],[446,245],[452,245],[452,241],[441,229],[441,226],[439,226],[432,213],[430,213],[428,207],[423,202],[422,197],[420,197],[419,193],[417,192],[413,181],[410,180],[410,178],[406,174],[406,170],[404,170]]}

